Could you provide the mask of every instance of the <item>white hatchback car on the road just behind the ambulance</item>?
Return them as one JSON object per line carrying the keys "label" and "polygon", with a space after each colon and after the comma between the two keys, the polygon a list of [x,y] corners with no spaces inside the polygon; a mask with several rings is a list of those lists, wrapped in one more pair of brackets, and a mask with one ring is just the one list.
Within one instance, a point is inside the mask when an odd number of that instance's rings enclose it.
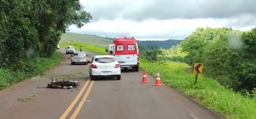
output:
{"label": "white hatchback car on the road just behind the ambulance", "polygon": [[91,80],[96,77],[116,77],[121,79],[120,64],[113,55],[97,55],[91,60],[89,66]]}

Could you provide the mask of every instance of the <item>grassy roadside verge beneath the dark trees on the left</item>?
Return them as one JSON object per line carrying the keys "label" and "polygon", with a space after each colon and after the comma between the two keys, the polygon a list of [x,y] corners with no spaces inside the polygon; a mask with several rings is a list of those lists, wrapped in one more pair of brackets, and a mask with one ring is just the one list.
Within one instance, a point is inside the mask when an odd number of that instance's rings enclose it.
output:
{"label": "grassy roadside verge beneath the dark trees on the left", "polygon": [[12,69],[0,68],[0,90],[16,82],[42,75],[44,71],[57,66],[61,62],[61,58],[61,53],[54,52],[51,57],[35,57],[25,62],[26,66],[28,66],[25,69],[14,71]]}

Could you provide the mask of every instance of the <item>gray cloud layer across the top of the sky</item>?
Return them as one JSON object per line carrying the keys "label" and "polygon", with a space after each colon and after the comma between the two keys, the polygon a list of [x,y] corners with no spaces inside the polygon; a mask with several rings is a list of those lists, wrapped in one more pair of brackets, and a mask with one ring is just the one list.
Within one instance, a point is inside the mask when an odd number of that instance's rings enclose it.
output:
{"label": "gray cloud layer across the top of the sky", "polygon": [[129,0],[81,1],[93,21],[123,18],[133,21],[175,18],[228,18],[256,15],[255,0]]}

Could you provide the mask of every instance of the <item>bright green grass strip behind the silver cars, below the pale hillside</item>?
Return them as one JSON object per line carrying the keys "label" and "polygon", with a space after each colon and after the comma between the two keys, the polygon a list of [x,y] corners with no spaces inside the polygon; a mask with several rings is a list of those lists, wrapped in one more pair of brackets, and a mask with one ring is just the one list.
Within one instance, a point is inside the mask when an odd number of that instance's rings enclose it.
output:
{"label": "bright green grass strip behind the silver cars, below the pale hillside", "polygon": [[74,46],[76,51],[79,51],[80,46],[82,46],[83,51],[94,52],[97,54],[108,54],[105,50],[107,47],[97,47],[90,44],[82,44],[82,43],[75,43],[75,42],[65,42],[59,44],[61,48],[66,48],[67,46]]}

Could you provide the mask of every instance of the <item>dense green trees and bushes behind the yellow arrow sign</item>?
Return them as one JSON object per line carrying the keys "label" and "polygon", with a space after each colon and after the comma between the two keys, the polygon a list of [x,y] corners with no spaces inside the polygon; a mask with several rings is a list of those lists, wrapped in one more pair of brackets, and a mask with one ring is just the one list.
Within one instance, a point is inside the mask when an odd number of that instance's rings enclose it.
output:
{"label": "dense green trees and bushes behind the yellow arrow sign", "polygon": [[234,89],[256,87],[256,28],[197,28],[182,42],[189,65],[204,63],[204,74]]}

